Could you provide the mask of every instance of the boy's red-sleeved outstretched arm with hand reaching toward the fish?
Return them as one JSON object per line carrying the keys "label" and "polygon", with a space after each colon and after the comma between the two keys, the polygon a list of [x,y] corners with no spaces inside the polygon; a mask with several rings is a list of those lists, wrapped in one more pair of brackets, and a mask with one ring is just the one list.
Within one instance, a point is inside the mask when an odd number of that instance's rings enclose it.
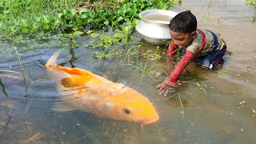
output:
{"label": "boy's red-sleeved outstretched arm with hand reaching toward the fish", "polygon": [[178,62],[178,65],[175,66],[173,72],[170,74],[170,77],[157,86],[160,87],[158,90],[159,94],[164,94],[166,96],[174,91],[173,86],[177,85],[178,77],[180,74],[182,74],[182,71],[186,68],[194,56],[195,55],[190,50],[186,50],[186,54],[184,54],[181,61]]}

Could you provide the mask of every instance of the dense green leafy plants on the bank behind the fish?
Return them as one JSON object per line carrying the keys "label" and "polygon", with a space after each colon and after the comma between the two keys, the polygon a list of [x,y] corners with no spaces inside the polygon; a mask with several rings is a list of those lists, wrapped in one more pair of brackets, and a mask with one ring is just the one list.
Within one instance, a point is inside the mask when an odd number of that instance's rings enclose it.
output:
{"label": "dense green leafy plants on the bank behind the fish", "polygon": [[[1,40],[18,34],[70,33],[89,27],[118,27],[146,9],[168,9],[175,0],[88,1],[3,0],[0,2]],[[134,20],[132,22],[136,22]],[[124,28],[127,30],[129,26]]]}

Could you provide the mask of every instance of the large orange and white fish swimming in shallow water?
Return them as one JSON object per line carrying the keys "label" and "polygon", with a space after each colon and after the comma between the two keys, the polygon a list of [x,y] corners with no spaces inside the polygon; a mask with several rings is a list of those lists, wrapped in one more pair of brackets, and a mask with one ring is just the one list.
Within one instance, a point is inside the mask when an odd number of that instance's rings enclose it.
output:
{"label": "large orange and white fish swimming in shallow water", "polygon": [[[99,117],[150,124],[158,113],[148,98],[122,83],[111,82],[90,71],[58,66],[55,53],[46,63],[58,91],[65,95],[53,110],[82,110]],[[64,100],[65,99],[65,100]]]}

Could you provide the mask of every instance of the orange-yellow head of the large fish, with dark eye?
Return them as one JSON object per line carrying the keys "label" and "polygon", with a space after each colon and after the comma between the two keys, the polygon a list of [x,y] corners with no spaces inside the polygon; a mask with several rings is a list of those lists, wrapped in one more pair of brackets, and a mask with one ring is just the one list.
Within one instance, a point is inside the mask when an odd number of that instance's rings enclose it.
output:
{"label": "orange-yellow head of the large fish, with dark eye", "polygon": [[152,102],[128,86],[115,91],[96,106],[99,115],[117,120],[142,122],[143,125],[158,121],[159,116]]}

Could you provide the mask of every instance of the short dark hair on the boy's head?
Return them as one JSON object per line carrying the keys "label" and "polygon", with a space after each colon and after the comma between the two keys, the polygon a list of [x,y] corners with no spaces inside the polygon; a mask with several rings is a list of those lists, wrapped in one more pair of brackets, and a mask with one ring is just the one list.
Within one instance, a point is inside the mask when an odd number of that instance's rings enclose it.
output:
{"label": "short dark hair on the boy's head", "polygon": [[174,32],[192,33],[197,30],[197,25],[197,18],[190,10],[186,10],[170,20],[169,28]]}

